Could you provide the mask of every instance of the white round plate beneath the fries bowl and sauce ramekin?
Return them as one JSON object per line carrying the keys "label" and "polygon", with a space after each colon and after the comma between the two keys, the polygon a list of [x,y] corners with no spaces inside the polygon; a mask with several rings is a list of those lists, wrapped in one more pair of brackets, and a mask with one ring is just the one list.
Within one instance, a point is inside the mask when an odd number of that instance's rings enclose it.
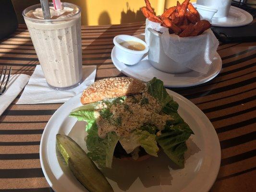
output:
{"label": "white round plate beneath the fries bowl and sauce ramekin", "polygon": [[[142,40],[144,40],[145,38],[143,34],[136,35],[136,37]],[[147,55],[143,60],[135,65],[125,65],[124,63],[116,59],[115,47],[112,49],[111,52],[111,60],[114,63],[115,67],[127,76],[134,77],[143,82],[147,82],[153,77],[157,77],[164,82],[164,86],[166,87],[189,87],[206,83],[219,74],[222,66],[222,60],[217,52],[215,54],[212,67],[207,74],[195,71],[179,74],[162,72],[154,68],[150,64],[149,60],[147,59]]]}

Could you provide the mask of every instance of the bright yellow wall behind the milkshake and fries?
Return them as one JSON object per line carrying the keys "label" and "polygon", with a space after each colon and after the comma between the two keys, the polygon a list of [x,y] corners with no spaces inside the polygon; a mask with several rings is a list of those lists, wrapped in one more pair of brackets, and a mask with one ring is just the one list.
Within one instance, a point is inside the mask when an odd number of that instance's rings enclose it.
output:
{"label": "bright yellow wall behind the milkshake and fries", "polygon": [[[140,8],[144,0],[66,0],[82,8],[82,24],[120,24],[144,21]],[[150,0],[158,13],[160,0]],[[162,0],[164,1],[164,0]]]}

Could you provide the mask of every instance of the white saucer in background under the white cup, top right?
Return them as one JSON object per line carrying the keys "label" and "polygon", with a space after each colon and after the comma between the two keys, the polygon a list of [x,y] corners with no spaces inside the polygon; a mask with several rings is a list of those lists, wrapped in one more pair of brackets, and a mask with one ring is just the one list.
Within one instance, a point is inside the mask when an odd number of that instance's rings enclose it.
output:
{"label": "white saucer in background under the white cup, top right", "polygon": [[[196,8],[196,4],[193,3]],[[212,18],[211,24],[219,27],[238,27],[250,24],[253,21],[253,16],[238,7],[231,6],[229,15],[223,18]]]}

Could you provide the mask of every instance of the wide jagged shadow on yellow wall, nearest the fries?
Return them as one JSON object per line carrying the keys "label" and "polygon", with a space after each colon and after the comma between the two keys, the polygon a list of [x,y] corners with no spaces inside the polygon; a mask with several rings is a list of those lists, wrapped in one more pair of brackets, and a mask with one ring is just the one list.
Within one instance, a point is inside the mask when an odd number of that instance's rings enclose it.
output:
{"label": "wide jagged shadow on yellow wall, nearest the fries", "polygon": [[134,10],[132,11],[129,7],[128,2],[126,2],[126,9],[127,9],[126,12],[124,12],[124,10],[122,10],[121,12],[121,21],[120,21],[121,24],[145,21],[145,16],[140,11],[140,9],[137,10],[136,12],[134,12]]}

